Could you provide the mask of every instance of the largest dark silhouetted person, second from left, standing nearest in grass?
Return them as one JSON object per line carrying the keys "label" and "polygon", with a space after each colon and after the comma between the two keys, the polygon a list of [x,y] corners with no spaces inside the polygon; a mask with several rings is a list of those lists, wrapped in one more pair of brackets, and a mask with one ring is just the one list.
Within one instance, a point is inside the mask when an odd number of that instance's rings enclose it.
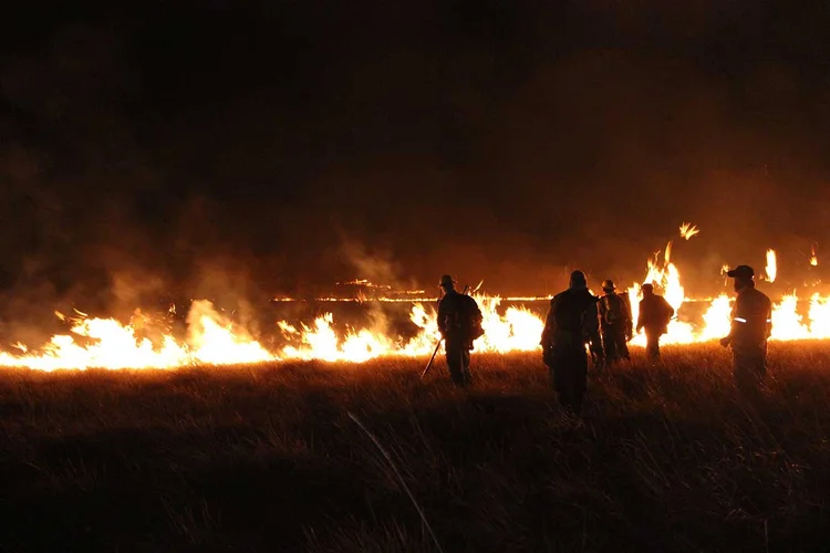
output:
{"label": "largest dark silhouetted person, second from left, standing nearest in grass", "polygon": [[568,290],[550,301],[542,331],[542,359],[550,369],[559,403],[570,415],[580,415],[588,389],[585,344],[589,344],[598,366],[604,363],[598,300],[588,290],[585,273],[572,272]]}

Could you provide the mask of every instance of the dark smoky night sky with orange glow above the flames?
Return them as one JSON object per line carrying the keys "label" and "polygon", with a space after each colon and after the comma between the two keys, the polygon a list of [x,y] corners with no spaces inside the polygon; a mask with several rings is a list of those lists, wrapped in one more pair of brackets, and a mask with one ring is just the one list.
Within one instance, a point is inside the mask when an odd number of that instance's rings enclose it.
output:
{"label": "dark smoky night sky with orange glow above the flames", "polygon": [[693,290],[767,247],[795,275],[830,248],[830,17],[796,3],[18,2],[3,309],[552,293],[641,279],[683,221]]}

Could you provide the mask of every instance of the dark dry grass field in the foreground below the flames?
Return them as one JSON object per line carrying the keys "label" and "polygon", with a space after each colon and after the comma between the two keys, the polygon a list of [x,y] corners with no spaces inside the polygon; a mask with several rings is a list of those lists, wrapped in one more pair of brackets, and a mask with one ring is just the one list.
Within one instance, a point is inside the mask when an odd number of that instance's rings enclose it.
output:
{"label": "dark dry grass field in the foreground below the flames", "polygon": [[562,417],[539,354],[0,373],[0,551],[799,551],[830,543],[830,351],[716,345],[592,378]]}

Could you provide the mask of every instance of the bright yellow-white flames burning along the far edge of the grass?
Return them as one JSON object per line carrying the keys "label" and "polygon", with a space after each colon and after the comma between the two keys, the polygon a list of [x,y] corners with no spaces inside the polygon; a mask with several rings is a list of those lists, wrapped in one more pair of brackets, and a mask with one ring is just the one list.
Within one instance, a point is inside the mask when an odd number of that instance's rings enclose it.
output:
{"label": "bright yellow-white flames burning along the far edge of the grass", "polygon": [[[686,240],[698,232],[689,223],[684,223],[679,230],[681,237]],[[815,258],[815,249],[812,254]],[[672,242],[668,242],[662,255],[657,251],[649,260],[643,283],[651,282],[657,286],[677,313],[684,302],[689,300],[681,283],[681,272],[671,258]],[[775,252],[769,250],[766,274],[770,282],[775,280],[776,273]],[[366,282],[354,281],[350,284],[362,285]],[[421,291],[409,291],[406,294],[419,295],[418,292]],[[641,284],[634,283],[627,293],[636,321]],[[500,313],[501,298],[481,293],[473,295],[481,307],[485,330],[485,335],[475,343],[476,352],[508,353],[539,348],[539,338],[544,325],[539,314],[523,306],[509,306]],[[508,298],[506,300],[543,299],[547,298]],[[381,356],[428,355],[439,337],[434,300],[429,298],[391,300],[409,301],[413,304],[409,319],[418,332],[407,341],[391,336],[382,326],[352,328],[345,335],[340,335],[334,328],[333,314],[326,313],[309,325],[295,325],[287,321],[277,323],[278,328],[291,345],[276,352],[268,351],[243,327],[232,324],[205,300],[194,302],[190,307],[185,341],[164,334],[160,340],[156,340],[155,345],[146,337],[136,337],[136,334],[139,334],[136,331],[139,330],[141,319],[133,324],[122,324],[113,319],[89,319],[79,312],[81,317],[73,320],[74,326],[71,333],[53,336],[50,343],[37,354],[29,352],[23,344],[13,346],[20,351],[18,354],[0,351],[0,366],[29,367],[40,371],[91,367],[174,368],[191,364],[238,365],[289,359],[361,363]],[[290,301],[290,299],[278,301]],[[376,298],[374,301],[384,301],[384,298]],[[663,336],[663,343],[688,344],[716,340],[726,335],[729,332],[732,302],[732,298],[726,294],[712,300],[703,314],[703,325],[699,327],[675,317],[668,325],[668,333]],[[786,295],[775,303],[772,340],[830,338],[830,296],[822,298],[813,294],[806,321],[798,313],[797,303],[798,298],[795,294]],[[136,313],[138,313],[137,310]],[[634,337],[632,344],[644,345],[645,336],[641,333]]]}

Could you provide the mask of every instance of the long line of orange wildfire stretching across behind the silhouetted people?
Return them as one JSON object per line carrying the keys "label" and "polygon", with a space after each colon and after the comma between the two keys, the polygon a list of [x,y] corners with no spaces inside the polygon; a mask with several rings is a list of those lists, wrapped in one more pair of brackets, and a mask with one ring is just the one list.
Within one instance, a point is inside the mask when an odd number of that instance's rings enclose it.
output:
{"label": "long line of orange wildfire stretching across behind the silhouetted people", "polygon": [[[684,240],[698,236],[689,223],[679,227]],[[777,254],[766,251],[760,285],[771,286],[778,279]],[[819,267],[818,244],[813,243],[805,261],[807,271]],[[724,265],[724,281],[726,265]],[[641,284],[657,286],[678,314],[663,336],[664,344],[691,344],[720,338],[729,331],[733,298],[726,292],[716,298],[689,299],[681,272],[672,261],[672,241],[647,260],[641,283],[625,293],[637,317]],[[818,276],[803,283],[802,290],[818,289]],[[599,281],[593,283],[594,288]],[[436,325],[436,292],[396,290],[365,279],[339,282],[336,293],[314,300],[308,324],[287,320],[271,322],[273,336],[255,332],[250,324],[218,309],[208,300],[189,305],[170,303],[164,312],[136,309],[129,322],[96,319],[76,311],[55,312],[68,332],[30,348],[22,343],[0,351],[0,366],[39,371],[83,368],[175,368],[186,365],[238,365],[288,359],[362,363],[382,356],[428,355],[439,337]],[[549,296],[488,295],[481,283],[473,295],[484,313],[485,334],[475,343],[476,352],[528,352],[539,348]],[[271,303],[301,304],[305,301],[273,298]],[[338,307],[341,304],[342,307]],[[350,309],[361,307],[369,322],[349,324]],[[338,309],[334,309],[338,307]],[[402,309],[405,316],[402,316]],[[322,310],[322,311],[320,311]],[[341,324],[335,325],[335,313]],[[352,317],[353,319],[353,317]],[[341,321],[346,321],[343,324]],[[266,323],[268,324],[268,323]],[[830,295],[791,291],[774,304],[772,341],[830,338]],[[644,346],[645,336],[633,337],[632,345]]]}

